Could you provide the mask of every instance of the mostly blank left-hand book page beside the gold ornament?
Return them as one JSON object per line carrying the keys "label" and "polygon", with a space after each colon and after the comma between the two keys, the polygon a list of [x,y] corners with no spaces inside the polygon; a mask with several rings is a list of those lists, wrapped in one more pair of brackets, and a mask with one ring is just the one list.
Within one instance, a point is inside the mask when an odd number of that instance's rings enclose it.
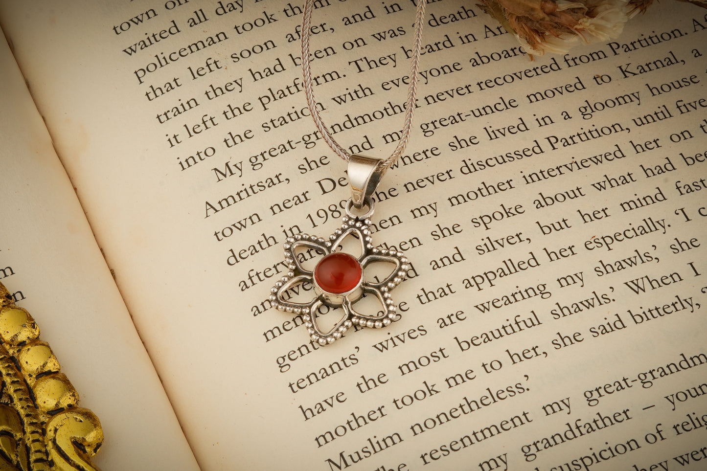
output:
{"label": "mostly blank left-hand book page beside the gold ornament", "polygon": [[79,405],[100,419],[93,463],[198,470],[5,41],[0,85],[0,281],[35,318]]}

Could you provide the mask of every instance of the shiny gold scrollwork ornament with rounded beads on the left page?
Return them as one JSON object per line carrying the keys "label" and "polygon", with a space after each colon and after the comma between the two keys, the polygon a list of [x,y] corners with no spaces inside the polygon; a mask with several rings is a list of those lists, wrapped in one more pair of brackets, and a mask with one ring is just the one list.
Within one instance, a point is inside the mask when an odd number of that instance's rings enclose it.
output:
{"label": "shiny gold scrollwork ornament with rounded beads on the left page", "polygon": [[78,393],[27,310],[0,283],[0,471],[98,471],[98,417]]}

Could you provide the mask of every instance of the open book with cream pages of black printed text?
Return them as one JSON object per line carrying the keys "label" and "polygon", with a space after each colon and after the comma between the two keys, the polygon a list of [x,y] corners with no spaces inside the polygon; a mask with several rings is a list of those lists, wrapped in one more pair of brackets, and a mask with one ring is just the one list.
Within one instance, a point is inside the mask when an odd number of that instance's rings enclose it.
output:
{"label": "open book with cream pages of black printed text", "polygon": [[[414,3],[316,6],[317,106],[385,158]],[[94,463],[705,469],[705,11],[531,60],[474,2],[431,2],[371,221],[410,260],[399,316],[325,347],[269,301],[286,238],[327,238],[351,194],[301,13],[0,3],[0,281],[99,417]]]}

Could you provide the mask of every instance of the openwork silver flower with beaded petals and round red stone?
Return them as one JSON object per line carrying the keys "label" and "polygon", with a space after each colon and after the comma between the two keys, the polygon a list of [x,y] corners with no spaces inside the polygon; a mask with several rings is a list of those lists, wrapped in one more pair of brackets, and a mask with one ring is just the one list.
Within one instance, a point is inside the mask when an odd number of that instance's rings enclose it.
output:
{"label": "openwork silver flower with beaded petals and round red stone", "polygon": [[[333,343],[353,325],[380,328],[390,325],[397,315],[390,291],[405,278],[409,269],[408,260],[402,252],[373,247],[369,215],[344,216],[341,228],[334,231],[329,240],[297,234],[288,238],[284,245],[289,271],[271,289],[271,304],[279,310],[301,314],[310,337],[321,345]],[[356,248],[360,245],[361,255],[352,255],[342,250],[351,245],[352,240],[356,241]],[[320,259],[313,269],[303,267],[303,262],[308,260],[303,255],[305,252],[315,252]],[[366,277],[366,267],[374,263],[390,264],[390,274],[385,277]],[[288,290],[308,282],[313,285],[315,298],[306,303],[291,301],[292,296]],[[368,295],[378,298],[380,310],[375,313],[358,312],[354,303]],[[317,322],[322,305],[344,310],[341,320],[326,332]]]}

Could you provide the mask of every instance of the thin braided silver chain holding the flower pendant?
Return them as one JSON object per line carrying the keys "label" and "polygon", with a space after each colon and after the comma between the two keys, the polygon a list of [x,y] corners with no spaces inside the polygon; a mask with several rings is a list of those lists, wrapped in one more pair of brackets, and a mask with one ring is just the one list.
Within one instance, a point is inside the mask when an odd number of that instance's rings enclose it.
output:
{"label": "thin braided silver chain holding the flower pendant", "polygon": [[[425,18],[425,3],[426,0],[417,0],[417,10],[415,16],[415,42],[413,47],[412,61],[410,65],[410,86],[407,91],[407,104],[405,105],[405,124],[402,129],[402,136],[398,141],[398,145],[395,151],[385,159],[381,161],[378,165],[378,170],[382,173],[390,168],[407,146],[407,142],[410,139],[410,134],[412,132],[412,118],[415,110],[415,96],[417,95],[417,78],[418,71],[420,69],[420,51],[422,48],[422,25]],[[302,21],[302,73],[304,76],[304,90],[307,96],[307,105],[310,109],[310,114],[312,115],[312,120],[315,122],[317,129],[322,134],[322,139],[325,140],[332,151],[337,154],[337,156],[344,159],[344,161],[349,161],[351,154],[346,151],[343,147],[339,145],[337,141],[334,140],[332,134],[329,134],[329,130],[322,121],[322,117],[317,110],[317,102],[314,98],[314,90],[312,89],[312,71],[310,69],[310,54],[309,54],[309,37],[310,37],[310,23],[312,21],[312,10],[314,6],[314,0],[305,0],[305,10],[303,14]]]}

